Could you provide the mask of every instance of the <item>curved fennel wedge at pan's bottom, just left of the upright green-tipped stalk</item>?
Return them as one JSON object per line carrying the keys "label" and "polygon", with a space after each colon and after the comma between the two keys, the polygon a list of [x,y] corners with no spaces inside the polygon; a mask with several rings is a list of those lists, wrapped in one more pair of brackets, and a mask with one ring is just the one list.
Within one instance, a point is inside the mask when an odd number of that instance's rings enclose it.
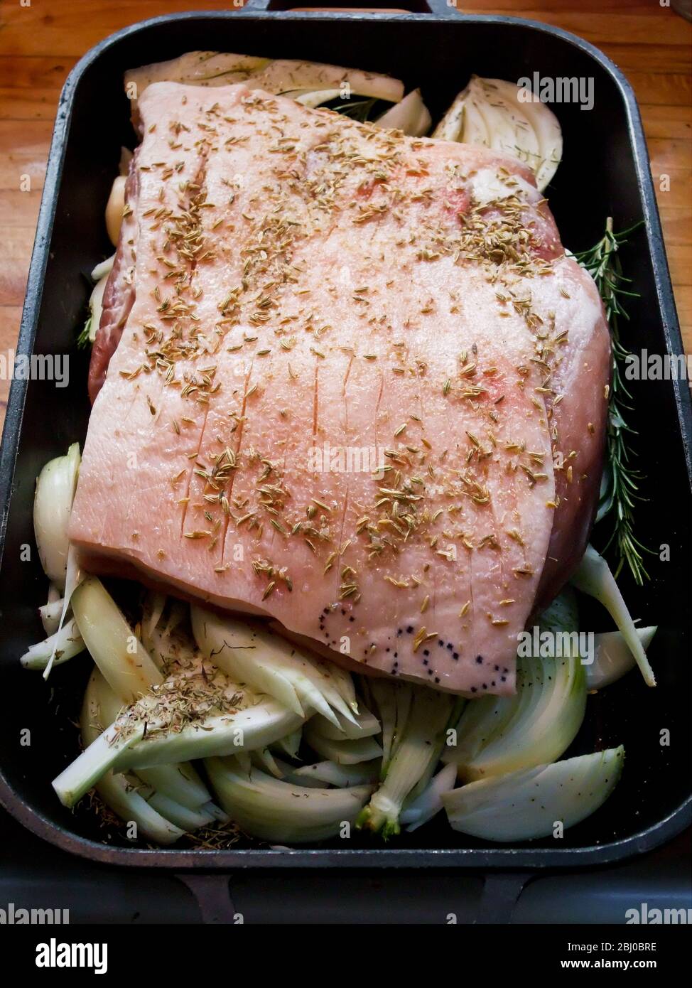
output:
{"label": "curved fennel wedge at pan's bottom, just left of the upright green-tipped stalk", "polygon": [[369,785],[324,789],[279,782],[235,759],[211,758],[206,771],[219,802],[247,833],[271,843],[306,844],[336,837],[355,820]]}

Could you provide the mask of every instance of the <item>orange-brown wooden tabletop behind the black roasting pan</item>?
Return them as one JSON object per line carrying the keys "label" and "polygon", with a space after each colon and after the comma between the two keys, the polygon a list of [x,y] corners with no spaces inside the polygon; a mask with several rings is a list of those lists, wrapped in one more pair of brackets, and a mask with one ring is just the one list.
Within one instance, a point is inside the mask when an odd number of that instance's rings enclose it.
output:
{"label": "orange-brown wooden tabletop behind the black roasting pan", "polygon": [[[230,0],[6,0],[0,13],[0,354],[17,339],[45,160],[67,73],[88,48],[128,24],[231,6]],[[565,28],[596,44],[628,76],[642,107],[654,178],[670,176],[658,205],[685,348],[692,351],[692,27],[658,0],[459,0],[459,7]],[[21,191],[20,176],[27,174],[31,191]],[[0,425],[8,390],[9,381],[0,380]]]}

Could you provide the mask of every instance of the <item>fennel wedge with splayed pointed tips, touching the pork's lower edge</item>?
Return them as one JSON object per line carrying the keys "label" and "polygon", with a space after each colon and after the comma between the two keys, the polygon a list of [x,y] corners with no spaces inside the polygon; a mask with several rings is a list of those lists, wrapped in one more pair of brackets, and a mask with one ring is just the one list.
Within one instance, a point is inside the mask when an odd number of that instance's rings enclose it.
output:
{"label": "fennel wedge with splayed pointed tips, touching the pork's lower edge", "polygon": [[196,606],[191,617],[201,651],[233,679],[274,697],[301,719],[316,711],[337,727],[337,713],[357,723],[335,685],[341,670],[337,672],[333,663],[308,658],[259,621],[219,617]]}

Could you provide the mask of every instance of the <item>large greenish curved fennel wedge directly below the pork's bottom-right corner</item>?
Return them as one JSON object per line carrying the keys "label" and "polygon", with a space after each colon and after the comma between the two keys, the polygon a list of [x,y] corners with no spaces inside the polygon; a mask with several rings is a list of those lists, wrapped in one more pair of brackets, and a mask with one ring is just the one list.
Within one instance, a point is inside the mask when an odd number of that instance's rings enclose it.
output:
{"label": "large greenish curved fennel wedge directly below the pork's bottom-right corner", "polygon": [[[577,632],[574,592],[563,592],[539,620],[542,631]],[[584,667],[574,643],[571,648],[563,657],[518,658],[516,694],[467,703],[456,745],[446,748],[442,761],[455,764],[459,777],[469,782],[560,758],[577,736],[586,709]]]}

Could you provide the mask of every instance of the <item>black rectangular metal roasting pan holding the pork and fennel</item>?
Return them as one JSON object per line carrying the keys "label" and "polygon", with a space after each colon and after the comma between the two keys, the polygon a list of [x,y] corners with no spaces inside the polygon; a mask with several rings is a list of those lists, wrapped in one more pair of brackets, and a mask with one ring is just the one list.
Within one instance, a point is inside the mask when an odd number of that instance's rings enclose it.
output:
{"label": "black rectangular metal roasting pan holding the pork and fennel", "polygon": [[[623,577],[621,586],[633,614],[645,624],[659,625],[650,652],[658,687],[648,689],[633,673],[589,699],[586,720],[568,755],[622,742],[625,771],[607,803],[568,830],[562,841],[489,845],[455,834],[438,818],[387,847],[361,835],[291,852],[249,842],[228,850],[151,850],[124,841],[107,846],[93,815],[62,807],[50,786],[78,751],[71,721],[89,660],[77,658],[56,670],[47,686],[38,674],[20,668],[18,657],[42,637],[37,607],[46,592],[34,548],[33,495],[42,464],[64,453],[70,443],[83,442],[86,434],[88,358],[76,350],[74,340],[90,291],[83,276],[113,250],[103,211],[119,148],[133,145],[122,93],[124,69],[194,48],[335,62],[390,73],[404,79],[407,88],[420,85],[433,119],[472,72],[514,80],[534,72],[592,79],[593,109],[553,106],[563,127],[565,152],[548,190],[550,203],[563,241],[573,250],[600,237],[607,215],[614,217],[616,229],[645,220],[623,251],[626,272],[641,295],[629,306],[627,343],[636,352],[682,353],[640,114],[615,65],[585,41],[536,22],[463,16],[446,0],[429,0],[429,6],[423,0],[392,0],[392,5],[413,13],[285,13],[291,3],[250,0],[243,11],[160,17],[102,41],[65,83],[17,353],[68,354],[69,385],[14,380],[0,452],[0,801],[30,830],[72,853],[101,862],[176,869],[575,867],[651,850],[690,821],[692,417],[684,380],[631,382],[635,443],[646,474],[642,493],[647,500],[638,508],[638,532],[655,554],[648,558],[650,584],[640,590]],[[22,561],[26,546],[32,546],[32,556]],[[660,546],[669,546],[668,561],[659,559],[659,552],[667,554]],[[606,621],[603,612],[591,626],[604,629]],[[661,744],[664,731],[669,732],[668,745]]]}

